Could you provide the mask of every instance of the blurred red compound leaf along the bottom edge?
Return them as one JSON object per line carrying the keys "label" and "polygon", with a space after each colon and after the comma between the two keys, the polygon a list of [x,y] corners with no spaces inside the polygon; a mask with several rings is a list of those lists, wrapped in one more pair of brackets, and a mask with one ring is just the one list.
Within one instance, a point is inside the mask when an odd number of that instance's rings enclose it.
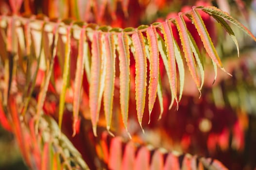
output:
{"label": "blurred red compound leaf along the bottom edge", "polygon": [[123,142],[121,137],[102,133],[96,144],[97,153],[104,168],[110,170],[226,170],[218,160],[190,154],[168,153],[165,149],[141,146],[135,142]]}

